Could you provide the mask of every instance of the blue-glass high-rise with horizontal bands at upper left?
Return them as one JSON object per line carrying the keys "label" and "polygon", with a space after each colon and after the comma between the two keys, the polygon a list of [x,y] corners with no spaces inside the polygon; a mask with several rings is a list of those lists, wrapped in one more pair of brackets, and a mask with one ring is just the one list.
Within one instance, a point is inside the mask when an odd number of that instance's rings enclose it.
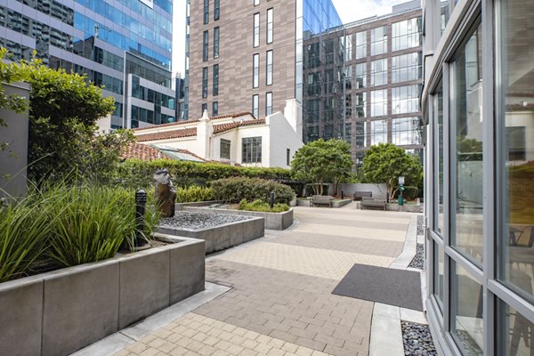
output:
{"label": "blue-glass high-rise with horizontal bands at upper left", "polygon": [[172,12],[170,0],[3,0],[0,45],[104,85],[111,127],[174,122]]}

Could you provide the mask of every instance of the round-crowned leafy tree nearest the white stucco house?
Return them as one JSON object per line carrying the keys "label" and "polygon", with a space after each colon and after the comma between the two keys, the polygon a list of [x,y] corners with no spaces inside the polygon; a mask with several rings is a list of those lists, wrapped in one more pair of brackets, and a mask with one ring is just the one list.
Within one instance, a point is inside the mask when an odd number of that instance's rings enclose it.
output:
{"label": "round-crowned leafy tree nearest the white stucco house", "polygon": [[323,183],[334,182],[337,185],[351,176],[351,146],[343,140],[322,139],[307,143],[295,152],[291,162],[293,179],[312,182],[315,194],[322,195]]}

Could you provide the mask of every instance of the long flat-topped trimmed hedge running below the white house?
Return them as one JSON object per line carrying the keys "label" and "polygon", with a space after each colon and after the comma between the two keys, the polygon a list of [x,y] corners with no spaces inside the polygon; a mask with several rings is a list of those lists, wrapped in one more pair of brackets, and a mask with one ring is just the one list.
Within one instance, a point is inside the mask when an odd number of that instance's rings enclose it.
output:
{"label": "long flat-topped trimmed hedge running below the white house", "polygon": [[152,185],[152,176],[160,168],[169,170],[176,187],[190,185],[206,187],[212,181],[237,176],[274,181],[290,180],[290,171],[284,168],[242,167],[170,159],[154,161],[127,159],[117,167],[114,183],[128,188],[147,189]]}

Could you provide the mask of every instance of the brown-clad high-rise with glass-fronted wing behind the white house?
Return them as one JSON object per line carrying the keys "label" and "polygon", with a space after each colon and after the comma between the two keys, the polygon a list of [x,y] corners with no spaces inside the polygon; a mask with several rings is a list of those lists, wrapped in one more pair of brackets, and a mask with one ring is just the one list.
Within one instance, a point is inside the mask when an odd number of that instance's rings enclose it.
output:
{"label": "brown-clad high-rise with glass-fronted wing behind the white house", "polygon": [[344,138],[356,166],[378,142],[422,155],[417,0],[347,25],[330,0],[203,0],[187,13],[186,117],[264,117],[295,98],[304,142]]}

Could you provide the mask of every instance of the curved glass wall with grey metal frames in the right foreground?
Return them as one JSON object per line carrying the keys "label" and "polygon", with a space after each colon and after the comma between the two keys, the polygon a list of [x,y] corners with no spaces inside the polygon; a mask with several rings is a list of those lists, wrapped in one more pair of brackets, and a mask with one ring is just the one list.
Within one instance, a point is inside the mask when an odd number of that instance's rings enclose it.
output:
{"label": "curved glass wall with grey metal frames in the right foreground", "polygon": [[530,15],[425,1],[425,303],[444,354],[534,354]]}

